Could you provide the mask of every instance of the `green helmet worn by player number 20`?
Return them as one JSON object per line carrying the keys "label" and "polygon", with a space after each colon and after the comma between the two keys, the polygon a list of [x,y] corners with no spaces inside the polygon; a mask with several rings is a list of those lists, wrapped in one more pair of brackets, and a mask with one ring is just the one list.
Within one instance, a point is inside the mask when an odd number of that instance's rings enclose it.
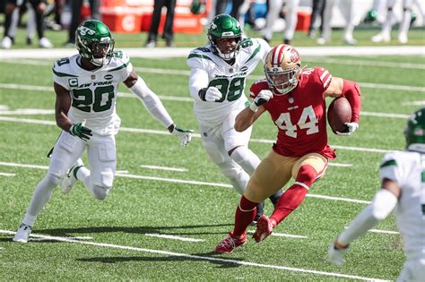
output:
{"label": "green helmet worn by player number 20", "polygon": [[115,41],[108,27],[101,21],[82,21],[75,31],[75,46],[81,56],[91,64],[109,64],[114,52]]}

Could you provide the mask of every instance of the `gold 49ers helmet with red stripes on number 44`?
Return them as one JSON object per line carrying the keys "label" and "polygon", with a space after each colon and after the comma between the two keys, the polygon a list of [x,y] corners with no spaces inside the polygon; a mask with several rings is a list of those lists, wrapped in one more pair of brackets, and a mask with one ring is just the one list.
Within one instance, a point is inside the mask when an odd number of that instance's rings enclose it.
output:
{"label": "gold 49ers helmet with red stripes on number 44", "polygon": [[297,87],[301,60],[291,45],[273,47],[265,58],[265,77],[275,95],[284,95]]}

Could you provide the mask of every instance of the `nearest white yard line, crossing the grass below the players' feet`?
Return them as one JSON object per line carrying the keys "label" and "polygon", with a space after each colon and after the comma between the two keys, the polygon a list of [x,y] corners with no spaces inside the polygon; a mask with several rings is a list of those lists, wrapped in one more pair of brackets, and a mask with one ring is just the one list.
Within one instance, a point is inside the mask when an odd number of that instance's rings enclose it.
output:
{"label": "nearest white yard line, crossing the grass below the players' feet", "polygon": [[[9,231],[9,230],[0,230],[0,233],[9,234],[9,235],[15,234],[15,232]],[[365,278],[365,277],[361,277],[361,276],[348,275],[348,274],[343,274],[343,273],[326,272],[326,271],[319,271],[319,270],[313,270],[313,269],[291,268],[291,267],[285,267],[285,266],[281,266],[281,265],[262,264],[262,263],[249,262],[249,261],[221,259],[219,257],[199,256],[199,255],[182,253],[182,252],[169,252],[169,251],[152,250],[152,249],[145,249],[145,248],[139,248],[139,247],[126,246],[126,245],[119,245],[119,244],[105,244],[105,243],[95,243],[95,242],[87,242],[87,241],[77,241],[77,240],[72,240],[72,239],[67,239],[67,238],[64,238],[64,237],[57,237],[57,236],[37,235],[37,234],[31,234],[30,236],[38,237],[38,238],[46,238],[46,239],[52,240],[52,241],[65,242],[65,243],[71,243],[71,244],[85,244],[85,245],[91,245],[91,246],[98,246],[98,247],[105,247],[105,248],[112,248],[112,249],[119,249],[119,250],[128,250],[128,251],[134,251],[134,252],[148,252],[148,253],[154,253],[154,254],[158,254],[158,255],[188,258],[188,259],[191,259],[191,260],[215,261],[215,262],[221,262],[221,263],[244,265],[244,266],[265,268],[265,269],[281,269],[281,270],[288,270],[288,271],[294,271],[294,272],[309,273],[309,274],[325,276],[325,277],[359,279],[359,280],[363,280],[363,281],[377,281],[377,282],[388,281],[388,280],[383,280],[383,279],[378,279],[378,278]]]}

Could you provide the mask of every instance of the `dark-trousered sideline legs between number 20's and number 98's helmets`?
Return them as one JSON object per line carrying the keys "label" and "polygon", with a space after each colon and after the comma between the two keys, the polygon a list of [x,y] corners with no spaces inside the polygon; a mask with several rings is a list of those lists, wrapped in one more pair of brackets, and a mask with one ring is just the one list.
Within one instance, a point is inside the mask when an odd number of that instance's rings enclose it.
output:
{"label": "dark-trousered sideline legs between number 20's and number 98's helmets", "polygon": [[167,47],[174,46],[173,22],[174,10],[176,9],[176,0],[155,0],[153,4],[151,27],[149,29],[149,35],[145,47],[156,47],[158,39],[158,28],[160,27],[160,13],[163,6],[167,8],[167,16],[165,18],[162,38],[165,39],[165,45]]}

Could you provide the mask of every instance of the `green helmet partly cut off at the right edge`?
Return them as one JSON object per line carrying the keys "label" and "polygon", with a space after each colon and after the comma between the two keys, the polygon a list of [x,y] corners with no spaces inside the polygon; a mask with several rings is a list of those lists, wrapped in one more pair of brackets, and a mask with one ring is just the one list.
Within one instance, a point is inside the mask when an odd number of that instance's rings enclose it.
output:
{"label": "green helmet partly cut off at the right edge", "polygon": [[425,153],[425,107],[414,112],[404,128],[407,150]]}

